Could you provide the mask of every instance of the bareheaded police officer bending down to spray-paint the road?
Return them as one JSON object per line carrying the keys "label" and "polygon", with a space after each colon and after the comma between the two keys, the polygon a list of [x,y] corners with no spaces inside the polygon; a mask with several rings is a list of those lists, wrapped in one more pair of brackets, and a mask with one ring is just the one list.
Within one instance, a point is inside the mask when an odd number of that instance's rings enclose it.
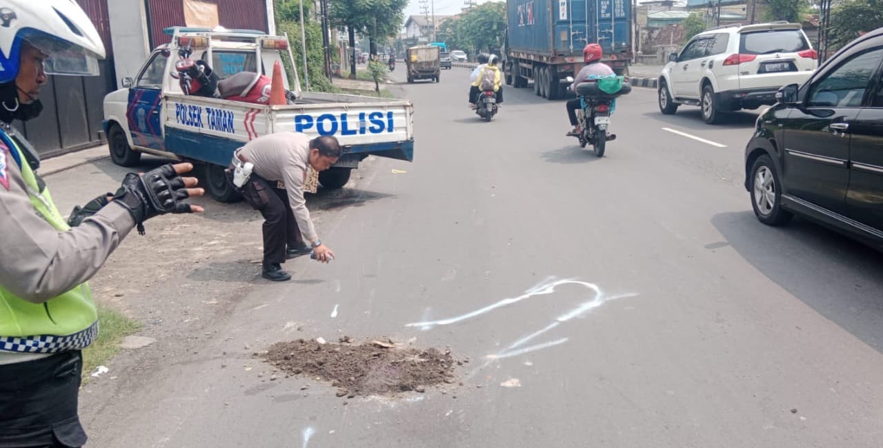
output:
{"label": "bareheaded police officer bending down to spray-paint the road", "polygon": [[[309,172],[307,167],[318,173],[331,168],[339,157],[337,138],[323,136],[311,140],[301,132],[267,134],[237,150],[233,164],[253,166],[242,186],[242,196],[264,217],[261,275],[265,279],[291,280],[291,274],[283,271],[282,263],[310,251],[322,263],[334,258],[334,252],[316,234],[310,211],[306,209],[304,184]],[[284,183],[284,187],[276,188],[279,183]],[[303,237],[310,243],[309,248],[305,247]]]}

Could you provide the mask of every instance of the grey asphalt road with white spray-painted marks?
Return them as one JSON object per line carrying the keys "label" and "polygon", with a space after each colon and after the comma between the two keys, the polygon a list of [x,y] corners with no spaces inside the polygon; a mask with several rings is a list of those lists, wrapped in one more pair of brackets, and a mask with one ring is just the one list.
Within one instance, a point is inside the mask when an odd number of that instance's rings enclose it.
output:
{"label": "grey asphalt road with white spray-painted marks", "polygon": [[[87,386],[90,445],[880,446],[883,259],[804,220],[754,219],[742,158],[756,114],[711,127],[698,108],[661,116],[636,88],[597,159],[564,136],[563,102],[532,90],[479,121],[467,73],[401,86],[415,161],[371,162],[328,207],[333,264],[240,278],[209,337],[147,365],[124,355],[116,379]],[[268,381],[252,356],[343,334],[471,362],[444,394],[344,405],[328,385]]]}

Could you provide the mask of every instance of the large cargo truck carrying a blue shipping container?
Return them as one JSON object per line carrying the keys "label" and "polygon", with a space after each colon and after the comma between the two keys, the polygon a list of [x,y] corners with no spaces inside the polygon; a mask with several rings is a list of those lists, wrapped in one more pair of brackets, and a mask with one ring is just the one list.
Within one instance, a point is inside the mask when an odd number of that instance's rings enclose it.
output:
{"label": "large cargo truck carrying a blue shipping container", "polygon": [[583,67],[583,48],[600,43],[604,63],[627,73],[631,60],[631,0],[507,0],[503,70],[506,84],[533,84],[549,100],[564,98]]}

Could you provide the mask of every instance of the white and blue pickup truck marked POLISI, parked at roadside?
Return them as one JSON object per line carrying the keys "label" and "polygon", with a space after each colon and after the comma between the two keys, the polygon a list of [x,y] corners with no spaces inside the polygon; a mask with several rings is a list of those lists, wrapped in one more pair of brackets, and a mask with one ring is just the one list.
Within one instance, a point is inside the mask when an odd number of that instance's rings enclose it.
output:
{"label": "white and blue pickup truck marked POLISI, parked at roadside", "polygon": [[104,98],[104,131],[117,165],[135,165],[141,153],[198,162],[208,192],[229,202],[238,198],[224,173],[233,152],[268,133],[335,136],[343,155],[321,172],[326,188],[343,187],[351,169],[369,155],[413,160],[411,101],[302,92],[296,70],[291,79],[282,77],[285,89],[294,94],[286,105],[187,94],[175,76],[176,63],[186,54],[208,63],[218,78],[242,71],[272,76],[274,64],[283,59],[283,66],[294,66],[289,41],[249,30],[175,27],[166,33],[171,42],[154,50],[136,78],[123,79],[124,88]]}

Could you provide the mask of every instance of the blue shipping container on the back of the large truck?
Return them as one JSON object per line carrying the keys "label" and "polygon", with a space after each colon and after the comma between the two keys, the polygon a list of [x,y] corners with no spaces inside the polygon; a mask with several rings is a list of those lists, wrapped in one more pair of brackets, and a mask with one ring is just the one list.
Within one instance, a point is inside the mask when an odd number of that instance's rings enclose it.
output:
{"label": "blue shipping container on the back of the large truck", "polygon": [[508,0],[509,49],[546,56],[631,50],[631,0]]}

